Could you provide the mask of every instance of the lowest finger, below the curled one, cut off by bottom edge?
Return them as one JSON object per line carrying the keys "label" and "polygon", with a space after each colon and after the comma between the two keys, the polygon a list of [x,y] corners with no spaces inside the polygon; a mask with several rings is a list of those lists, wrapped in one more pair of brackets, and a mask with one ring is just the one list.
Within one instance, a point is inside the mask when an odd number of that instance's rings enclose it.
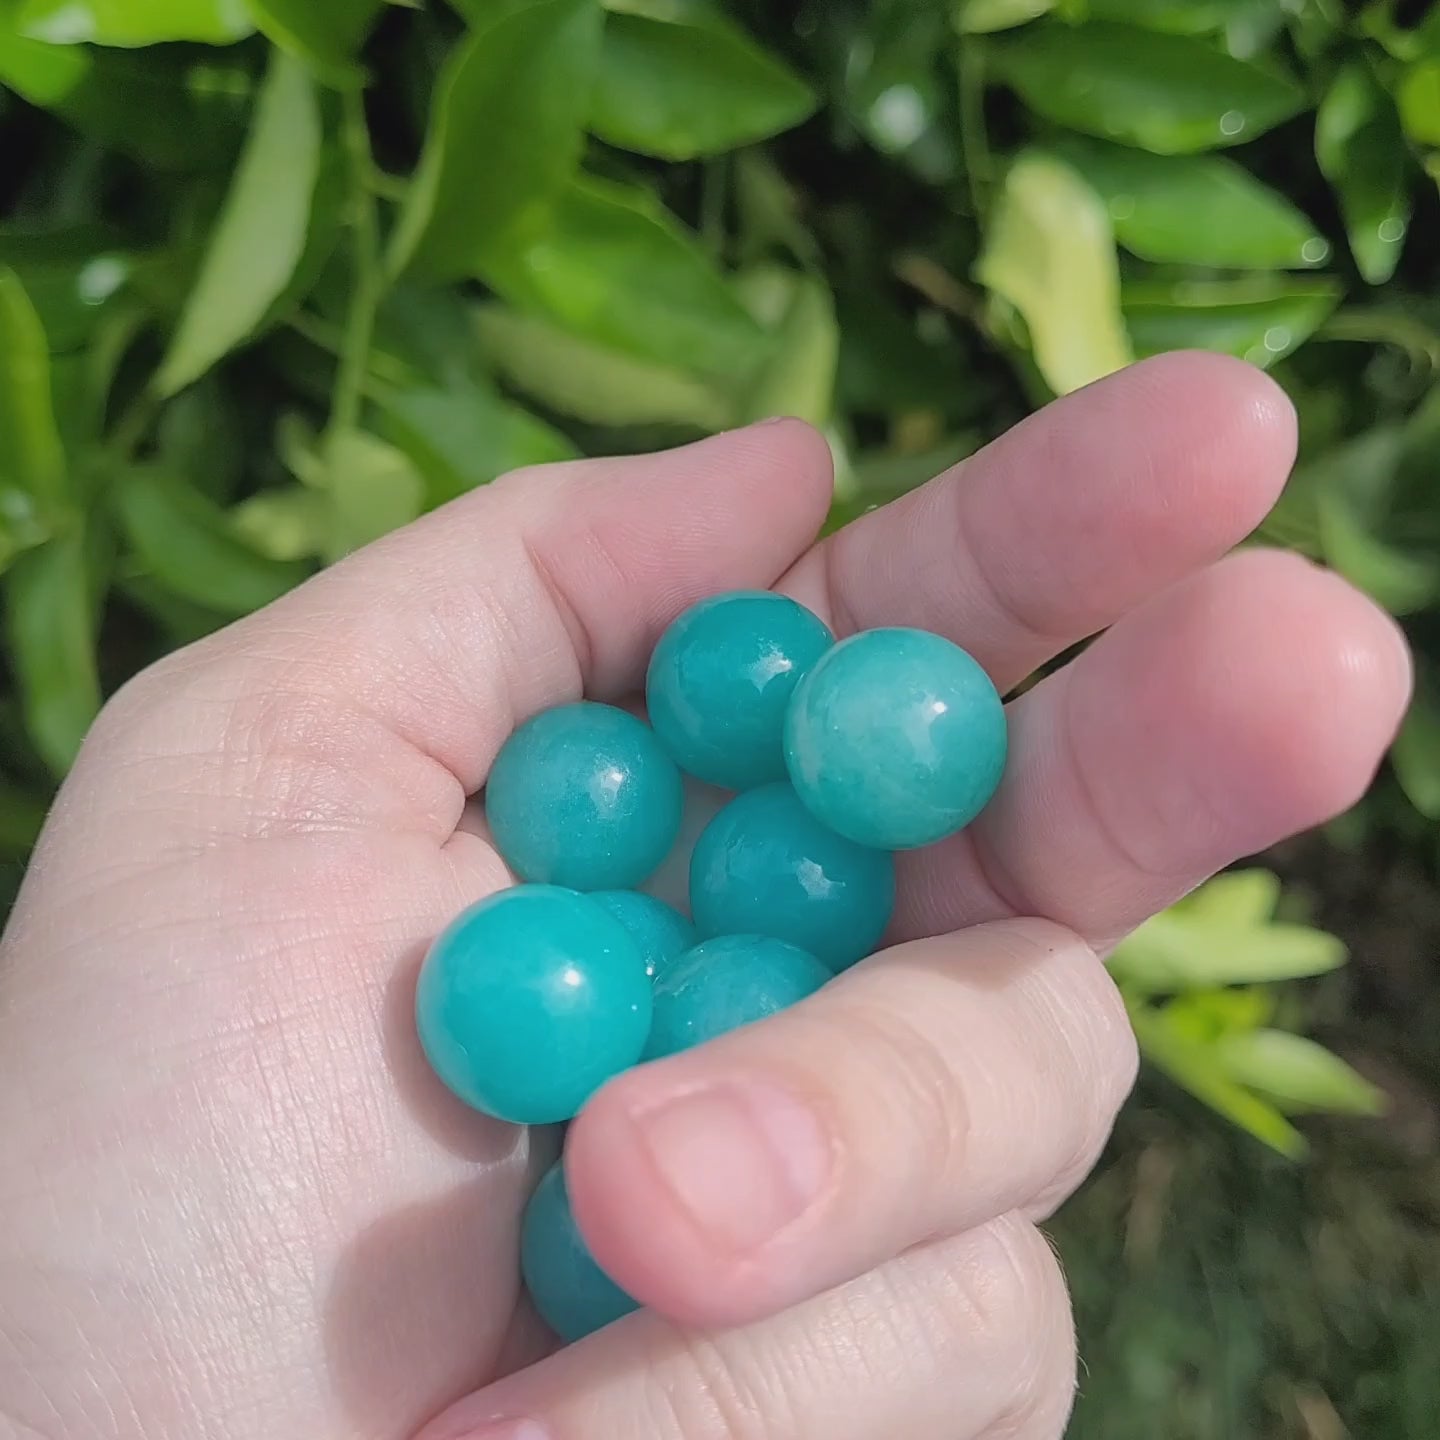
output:
{"label": "lowest finger, below the curled one, cut off by bottom edge", "polygon": [[1056,1257],[1004,1217],[744,1329],[628,1316],[418,1440],[1058,1440],[1074,1374]]}

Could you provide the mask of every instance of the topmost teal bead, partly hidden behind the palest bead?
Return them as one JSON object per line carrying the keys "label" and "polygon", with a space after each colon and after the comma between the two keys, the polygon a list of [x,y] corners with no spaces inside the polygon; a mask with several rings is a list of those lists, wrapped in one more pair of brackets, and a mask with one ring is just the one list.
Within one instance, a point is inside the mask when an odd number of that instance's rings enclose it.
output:
{"label": "topmost teal bead, partly hidden behind the palest bead", "polygon": [[785,710],[801,677],[835,644],[818,616],[769,590],[693,605],[660,638],[645,706],[680,768],[747,791],[785,779]]}

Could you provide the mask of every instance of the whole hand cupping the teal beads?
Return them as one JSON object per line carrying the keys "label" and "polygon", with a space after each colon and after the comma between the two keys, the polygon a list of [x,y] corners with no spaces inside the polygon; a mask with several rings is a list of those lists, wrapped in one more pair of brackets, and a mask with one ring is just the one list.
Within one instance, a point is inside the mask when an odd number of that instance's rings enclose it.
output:
{"label": "whole hand cupping the teal beads", "polygon": [[[795,422],[556,465],[130,684],[6,937],[0,1436],[406,1440],[456,1403],[426,1440],[1054,1440],[1032,1225],[1135,1066],[1096,955],[1355,801],[1407,698],[1341,580],[1221,559],[1293,444],[1269,380],[1174,356],[818,546]],[[516,1228],[554,1140],[439,1089],[416,966],[507,883],[467,796],[516,721],[770,585],[1002,688],[1107,634],[1012,704],[982,819],[906,857],[891,950],[580,1117],[582,1224],[654,1309],[550,1354]]]}

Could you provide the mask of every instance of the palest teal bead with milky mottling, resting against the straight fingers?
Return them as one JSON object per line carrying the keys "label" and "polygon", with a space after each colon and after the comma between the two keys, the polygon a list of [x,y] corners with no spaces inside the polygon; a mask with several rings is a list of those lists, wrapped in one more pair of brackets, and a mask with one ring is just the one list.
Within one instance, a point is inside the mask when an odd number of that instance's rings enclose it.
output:
{"label": "palest teal bead with milky mottling, resting against the straight fingers", "polygon": [[796,687],[785,721],[806,808],[877,850],[963,829],[995,793],[1007,747],[989,675],[959,645],[916,629],[842,641]]}

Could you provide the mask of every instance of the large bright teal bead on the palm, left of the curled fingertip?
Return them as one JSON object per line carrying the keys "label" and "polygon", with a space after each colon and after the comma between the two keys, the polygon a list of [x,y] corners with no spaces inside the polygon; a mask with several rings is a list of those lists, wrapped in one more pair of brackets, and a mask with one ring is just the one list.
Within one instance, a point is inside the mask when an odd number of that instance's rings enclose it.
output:
{"label": "large bright teal bead on the palm, left of the curled fingertip", "polygon": [[589,896],[517,886],[471,906],[420,965],[415,1020],[435,1073],[514,1125],[572,1119],[639,1058],[651,981]]}

